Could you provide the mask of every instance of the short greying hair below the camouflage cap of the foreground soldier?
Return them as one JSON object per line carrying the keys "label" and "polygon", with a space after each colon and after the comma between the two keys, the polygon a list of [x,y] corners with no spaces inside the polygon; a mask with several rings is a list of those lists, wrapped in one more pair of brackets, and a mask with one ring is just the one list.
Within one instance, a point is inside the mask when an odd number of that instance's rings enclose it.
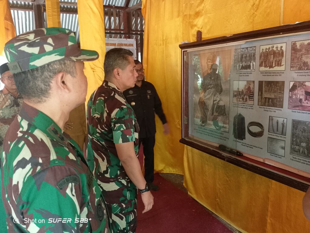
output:
{"label": "short greying hair below the camouflage cap of the foreground soldier", "polygon": [[76,76],[74,61],[60,60],[38,68],[14,74],[14,81],[19,94],[33,102],[43,103],[50,96],[51,82],[59,72]]}

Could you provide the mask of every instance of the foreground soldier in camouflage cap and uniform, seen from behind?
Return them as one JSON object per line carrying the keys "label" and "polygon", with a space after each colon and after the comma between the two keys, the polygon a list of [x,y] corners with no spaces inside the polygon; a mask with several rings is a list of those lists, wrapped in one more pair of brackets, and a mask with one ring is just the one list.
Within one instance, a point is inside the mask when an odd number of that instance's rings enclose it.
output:
{"label": "foreground soldier in camouflage cap and uniform, seen from behind", "polygon": [[101,190],[77,143],[63,132],[70,111],[85,102],[82,61],[74,33],[41,28],[5,45],[24,97],[1,153],[2,201],[9,232],[109,232]]}

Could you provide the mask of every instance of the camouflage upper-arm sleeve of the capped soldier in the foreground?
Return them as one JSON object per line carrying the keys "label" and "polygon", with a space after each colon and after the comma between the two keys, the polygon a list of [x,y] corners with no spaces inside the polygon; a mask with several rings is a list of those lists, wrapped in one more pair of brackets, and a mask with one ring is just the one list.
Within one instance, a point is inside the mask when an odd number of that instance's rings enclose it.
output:
{"label": "camouflage upper-arm sleeve of the capped soldier in the foreground", "polygon": [[86,197],[81,193],[81,179],[73,168],[49,167],[23,184],[16,215],[29,232],[84,232],[88,224],[75,223],[88,217]]}

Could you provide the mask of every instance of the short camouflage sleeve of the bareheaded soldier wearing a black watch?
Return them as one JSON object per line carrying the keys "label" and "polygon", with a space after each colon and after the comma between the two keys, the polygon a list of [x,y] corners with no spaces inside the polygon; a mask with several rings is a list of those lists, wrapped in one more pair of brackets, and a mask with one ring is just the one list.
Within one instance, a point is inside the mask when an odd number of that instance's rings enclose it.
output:
{"label": "short camouflage sleeve of the bareheaded soldier wearing a black watch", "polygon": [[135,115],[131,108],[122,106],[111,114],[113,142],[135,141]]}

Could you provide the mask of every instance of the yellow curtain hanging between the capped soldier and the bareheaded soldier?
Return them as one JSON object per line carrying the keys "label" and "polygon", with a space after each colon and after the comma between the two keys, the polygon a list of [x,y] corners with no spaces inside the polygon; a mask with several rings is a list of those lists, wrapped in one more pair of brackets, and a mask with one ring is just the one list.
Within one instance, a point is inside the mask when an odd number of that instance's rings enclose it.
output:
{"label": "yellow curtain hanging between the capped soldier and the bareheaded soldier", "polygon": [[84,72],[88,80],[87,102],[93,91],[104,80],[105,34],[102,0],[78,0],[78,22],[81,48],[95,50],[99,53],[99,59],[84,63]]}

